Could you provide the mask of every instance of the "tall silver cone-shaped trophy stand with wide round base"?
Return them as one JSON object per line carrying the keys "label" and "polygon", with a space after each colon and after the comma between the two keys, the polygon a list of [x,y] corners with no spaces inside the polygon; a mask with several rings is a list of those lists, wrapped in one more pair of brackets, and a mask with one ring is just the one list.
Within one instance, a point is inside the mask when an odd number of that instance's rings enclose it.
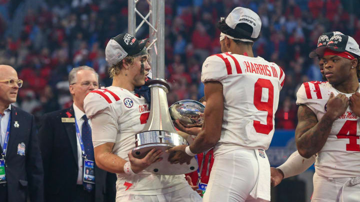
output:
{"label": "tall silver cone-shaped trophy stand with wide round base", "polygon": [[[167,108],[166,93],[170,86],[163,79],[155,78],[146,82],[150,88],[150,114],[144,130],[135,134],[135,148],[132,155],[142,159],[153,148],[163,152],[178,145],[187,145],[186,140],[176,133]],[[162,161],[153,163],[145,171],[160,175],[181,175],[191,173],[197,169],[194,158],[187,164],[170,164],[167,161],[168,153],[163,153]]]}

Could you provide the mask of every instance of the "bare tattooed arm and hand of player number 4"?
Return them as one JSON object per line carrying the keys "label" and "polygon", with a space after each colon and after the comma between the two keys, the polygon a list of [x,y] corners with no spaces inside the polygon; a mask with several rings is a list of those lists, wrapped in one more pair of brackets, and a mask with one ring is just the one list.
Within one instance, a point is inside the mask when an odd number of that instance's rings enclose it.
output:
{"label": "bare tattooed arm and hand of player number 4", "polygon": [[295,142],[302,157],[310,158],[322,149],[330,134],[332,123],[345,112],[348,103],[345,95],[334,96],[331,93],[327,101],[327,111],[319,121],[310,108],[305,105],[299,106]]}

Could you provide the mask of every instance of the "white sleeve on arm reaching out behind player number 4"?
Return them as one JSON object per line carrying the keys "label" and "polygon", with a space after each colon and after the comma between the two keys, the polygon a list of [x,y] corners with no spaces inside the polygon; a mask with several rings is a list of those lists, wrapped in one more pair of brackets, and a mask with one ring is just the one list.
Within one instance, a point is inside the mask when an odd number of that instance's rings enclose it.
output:
{"label": "white sleeve on arm reaching out behind player number 4", "polygon": [[312,157],[306,159],[300,156],[297,150],[292,153],[289,158],[277,167],[284,174],[284,179],[292,176],[296,176],[306,171],[313,163],[315,163],[316,157],[313,155]]}

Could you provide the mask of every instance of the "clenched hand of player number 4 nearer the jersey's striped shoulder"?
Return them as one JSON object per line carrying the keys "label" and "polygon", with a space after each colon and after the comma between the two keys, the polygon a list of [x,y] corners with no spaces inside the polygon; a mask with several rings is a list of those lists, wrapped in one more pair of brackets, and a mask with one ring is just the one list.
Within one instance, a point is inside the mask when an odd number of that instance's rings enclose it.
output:
{"label": "clenched hand of player number 4 nearer the jersey's striped shoulder", "polygon": [[344,94],[338,94],[336,96],[330,93],[330,97],[327,100],[325,114],[328,114],[333,120],[336,120],[339,116],[343,115],[349,105],[349,99]]}

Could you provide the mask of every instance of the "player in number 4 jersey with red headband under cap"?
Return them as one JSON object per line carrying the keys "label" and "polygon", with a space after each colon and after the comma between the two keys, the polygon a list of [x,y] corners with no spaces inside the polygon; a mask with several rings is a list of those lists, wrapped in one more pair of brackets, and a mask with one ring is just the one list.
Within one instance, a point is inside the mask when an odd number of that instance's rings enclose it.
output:
{"label": "player in number 4 jersey with red headband under cap", "polygon": [[359,56],[356,41],[334,35],[325,47],[328,82],[305,82],[297,92],[295,141],[304,158],[316,154],[312,202],[360,201]]}

